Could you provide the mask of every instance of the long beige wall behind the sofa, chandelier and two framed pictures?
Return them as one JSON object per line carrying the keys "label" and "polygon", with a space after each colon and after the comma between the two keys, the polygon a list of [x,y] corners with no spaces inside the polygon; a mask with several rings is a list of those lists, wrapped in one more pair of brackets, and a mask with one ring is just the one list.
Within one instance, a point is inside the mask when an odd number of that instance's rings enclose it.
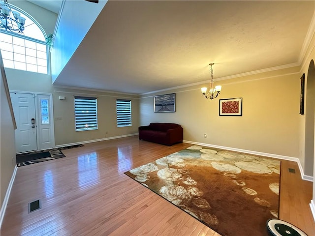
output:
{"label": "long beige wall behind the sofa, chandelier and two framed pictures", "polygon": [[[202,85],[159,93],[176,92],[175,113],[154,113],[153,96],[142,96],[140,125],[176,122],[187,141],[299,157],[298,67],[216,84],[222,91],[214,100],[202,96]],[[236,97],[243,98],[243,116],[219,116],[219,99]]]}

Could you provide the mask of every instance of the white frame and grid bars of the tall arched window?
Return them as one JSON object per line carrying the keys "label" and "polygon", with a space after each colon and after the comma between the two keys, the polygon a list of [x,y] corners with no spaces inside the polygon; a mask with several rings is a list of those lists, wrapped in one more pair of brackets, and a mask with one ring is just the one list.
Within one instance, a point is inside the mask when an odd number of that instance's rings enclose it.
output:
{"label": "white frame and grid bars of the tall arched window", "polygon": [[[23,15],[26,15],[27,17],[29,17],[29,18],[32,20],[33,24],[35,24],[35,25],[41,30],[41,32],[43,33],[44,38],[47,37],[47,34],[46,34],[45,30],[41,27],[41,25],[40,25],[29,13],[27,13],[26,11],[22,10],[21,8],[15,6],[15,5],[12,5],[12,4],[10,4],[10,3],[9,3],[9,5],[10,5],[10,7],[11,7],[12,10],[18,11],[18,12],[22,13]],[[26,25],[30,25],[30,24],[27,23]],[[27,30],[27,26],[25,27],[24,30]],[[22,39],[24,39],[24,40],[29,40],[29,41],[32,41],[32,42],[35,42],[35,43],[38,43],[38,44],[42,44],[42,45],[44,45],[44,46],[46,47],[46,61],[47,61],[46,67],[47,67],[47,73],[38,72],[38,68],[37,68],[37,72],[30,71],[30,70],[27,70],[27,69],[24,70],[24,69],[12,68],[12,67],[5,67],[5,68],[10,68],[10,69],[15,69],[15,70],[22,70],[22,71],[28,71],[28,72],[33,72],[33,73],[38,73],[38,74],[44,74],[44,75],[46,75],[46,74],[47,74],[47,75],[50,75],[50,73],[51,73],[51,71],[50,71],[50,57],[49,57],[49,53],[48,53],[48,52],[49,52],[49,47],[48,47],[46,41],[42,41],[42,40],[39,40],[39,39],[36,39],[36,38],[32,38],[32,37],[26,36],[26,35],[24,35],[24,34],[22,34],[22,33],[11,32],[11,31],[7,31],[7,30],[4,30],[4,29],[0,29],[0,34],[1,34],[1,33],[10,35],[10,36],[12,36],[12,37],[17,37],[17,38],[22,38]],[[14,45],[14,44],[13,44],[13,38],[12,38],[12,44],[11,44],[11,45],[12,45],[12,47],[13,47],[13,45]],[[25,51],[26,51],[26,47],[25,47],[25,46],[24,46],[24,49],[25,49]],[[1,51],[10,52],[10,51],[5,50],[5,48],[2,48]],[[36,52],[37,52],[37,49],[36,49]],[[12,53],[14,54],[13,51],[12,51]],[[27,55],[25,54],[25,57],[26,57],[26,56],[27,56]],[[38,58],[36,57],[36,59],[38,59]],[[13,61],[13,64],[14,64],[14,62],[19,62],[19,61],[15,61],[14,58],[13,58],[13,60],[11,60],[11,61]],[[23,63],[24,63],[24,62],[23,62]],[[27,64],[27,63],[25,62],[25,64]],[[38,66],[38,65],[39,65],[39,64],[38,64],[37,61],[36,61],[36,66]],[[14,67],[15,67],[15,66],[14,66]],[[26,68],[27,68],[27,67],[26,67]]]}

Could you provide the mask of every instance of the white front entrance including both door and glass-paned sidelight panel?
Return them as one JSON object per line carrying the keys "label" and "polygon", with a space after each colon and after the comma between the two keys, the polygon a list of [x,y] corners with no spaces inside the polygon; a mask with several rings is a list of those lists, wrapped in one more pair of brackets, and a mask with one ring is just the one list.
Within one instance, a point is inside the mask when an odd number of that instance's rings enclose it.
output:
{"label": "white front entrance including both door and glass-paned sidelight panel", "polygon": [[10,92],[17,129],[16,152],[54,148],[52,94]]}

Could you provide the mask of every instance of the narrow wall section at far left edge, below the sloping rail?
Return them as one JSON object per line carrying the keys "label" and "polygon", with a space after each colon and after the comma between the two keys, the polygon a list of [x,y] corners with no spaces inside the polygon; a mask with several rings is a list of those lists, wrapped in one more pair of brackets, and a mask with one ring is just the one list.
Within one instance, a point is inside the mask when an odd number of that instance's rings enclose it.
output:
{"label": "narrow wall section at far left edge, below the sloping rail", "polygon": [[[2,66],[2,65],[1,65]],[[14,167],[15,159],[15,136],[9,103],[4,89],[3,78],[0,74],[1,90],[1,118],[0,118],[0,207],[9,186]]]}

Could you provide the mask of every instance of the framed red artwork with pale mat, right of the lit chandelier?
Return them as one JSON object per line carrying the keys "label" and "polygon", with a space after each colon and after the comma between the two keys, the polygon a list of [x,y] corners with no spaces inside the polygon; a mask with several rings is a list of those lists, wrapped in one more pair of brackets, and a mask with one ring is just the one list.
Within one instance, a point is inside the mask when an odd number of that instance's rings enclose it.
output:
{"label": "framed red artwork with pale mat, right of the lit chandelier", "polygon": [[242,116],[243,98],[226,98],[219,100],[219,116]]}

